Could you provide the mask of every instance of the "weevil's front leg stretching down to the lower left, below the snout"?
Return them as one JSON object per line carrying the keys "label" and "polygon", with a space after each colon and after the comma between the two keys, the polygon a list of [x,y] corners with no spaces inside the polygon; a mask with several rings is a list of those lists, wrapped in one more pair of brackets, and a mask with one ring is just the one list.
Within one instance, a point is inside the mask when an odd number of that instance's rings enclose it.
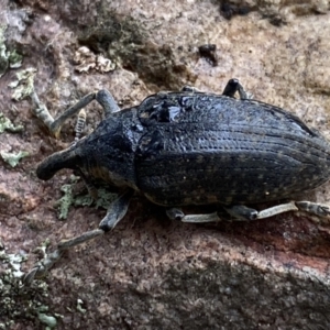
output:
{"label": "weevil's front leg stretching down to the lower left, below the snout", "polygon": [[79,237],[61,241],[57,245],[57,250],[47,254],[43,260],[35,264],[35,266],[23,276],[23,283],[31,284],[34,278],[43,277],[50,268],[61,258],[64,251],[90,241],[106,232],[112,230],[116,224],[125,216],[130,199],[132,196],[132,190],[128,190],[122,194],[118,199],[116,199],[107,211],[107,216],[102,219],[99,224],[99,229],[87,231]]}

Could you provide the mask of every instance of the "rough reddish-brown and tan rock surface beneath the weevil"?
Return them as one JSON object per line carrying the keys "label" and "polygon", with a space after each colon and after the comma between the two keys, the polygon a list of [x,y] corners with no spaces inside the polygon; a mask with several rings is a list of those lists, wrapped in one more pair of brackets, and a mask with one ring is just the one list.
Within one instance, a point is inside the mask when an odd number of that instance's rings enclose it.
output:
{"label": "rough reddish-brown and tan rock surface beneath the weevil", "polygon": [[[330,139],[329,1],[50,2],[0,2],[0,112],[24,128],[0,134],[0,151],[30,154],[1,161],[0,329],[328,329],[329,223],[304,215],[194,226],[135,199],[113,232],[66,253],[45,279],[20,288],[13,270],[18,254],[28,271],[36,246],[105,216],[80,207],[58,220],[70,173],[36,178],[36,164],[73,141],[75,120],[50,136],[24,98],[33,77],[54,117],[101,88],[124,108],[184,85],[221,92],[237,77]],[[200,56],[205,44],[216,61]],[[91,130],[101,110],[88,110]],[[330,185],[308,198],[330,204]]]}

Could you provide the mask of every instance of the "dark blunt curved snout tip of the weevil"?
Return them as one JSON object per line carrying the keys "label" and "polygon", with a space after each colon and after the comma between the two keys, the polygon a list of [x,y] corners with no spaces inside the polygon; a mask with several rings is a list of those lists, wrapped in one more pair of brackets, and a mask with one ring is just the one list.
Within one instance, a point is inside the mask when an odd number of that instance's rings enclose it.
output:
{"label": "dark blunt curved snout tip of the weevil", "polygon": [[57,152],[38,164],[36,176],[42,180],[48,180],[62,168],[77,168],[80,156],[76,150],[66,148]]}

